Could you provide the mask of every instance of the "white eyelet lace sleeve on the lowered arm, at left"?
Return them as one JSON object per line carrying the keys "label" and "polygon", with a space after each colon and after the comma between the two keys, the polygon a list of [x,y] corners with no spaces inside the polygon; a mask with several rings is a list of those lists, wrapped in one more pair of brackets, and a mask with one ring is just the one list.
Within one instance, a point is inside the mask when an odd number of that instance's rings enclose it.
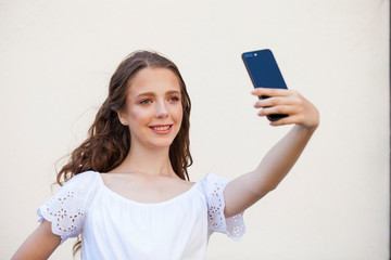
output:
{"label": "white eyelet lace sleeve on the lowered arm, at left", "polygon": [[61,236],[61,243],[80,234],[97,174],[90,171],[73,177],[37,210],[39,222],[50,221],[52,233]]}

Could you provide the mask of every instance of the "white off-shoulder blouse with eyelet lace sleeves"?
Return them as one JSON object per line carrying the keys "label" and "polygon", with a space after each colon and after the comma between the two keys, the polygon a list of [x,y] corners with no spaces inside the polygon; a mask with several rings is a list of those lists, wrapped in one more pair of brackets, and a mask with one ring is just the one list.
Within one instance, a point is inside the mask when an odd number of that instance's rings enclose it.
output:
{"label": "white off-shoulder blouse with eyelet lace sleeves", "polygon": [[37,211],[52,223],[61,243],[81,233],[81,257],[99,259],[205,258],[213,232],[239,240],[243,212],[224,217],[229,181],[207,173],[187,192],[161,203],[127,199],[104,185],[99,172],[73,177]]}

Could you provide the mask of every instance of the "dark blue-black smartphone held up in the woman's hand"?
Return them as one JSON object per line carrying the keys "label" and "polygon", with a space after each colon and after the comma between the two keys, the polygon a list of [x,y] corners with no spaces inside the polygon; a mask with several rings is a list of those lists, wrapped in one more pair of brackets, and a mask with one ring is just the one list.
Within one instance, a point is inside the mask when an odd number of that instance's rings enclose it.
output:
{"label": "dark blue-black smartphone held up in the woman's hand", "polygon": [[[278,68],[276,58],[273,52],[268,49],[244,52],[242,54],[245,68],[250,75],[254,88],[275,88],[288,89],[283,81],[281,72]],[[260,96],[260,99],[267,99],[268,96]],[[274,114],[267,116],[270,121],[277,121],[288,115]]]}

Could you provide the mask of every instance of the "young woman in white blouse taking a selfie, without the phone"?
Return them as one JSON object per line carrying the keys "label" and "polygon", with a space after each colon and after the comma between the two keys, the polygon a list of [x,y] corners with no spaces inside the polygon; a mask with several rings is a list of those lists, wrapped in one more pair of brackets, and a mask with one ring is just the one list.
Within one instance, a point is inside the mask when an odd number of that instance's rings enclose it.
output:
{"label": "young woman in white blouse taking a selfie, without the phone", "polygon": [[[236,180],[214,173],[189,181],[190,99],[176,65],[157,53],[131,53],[111,78],[109,96],[58,173],[64,185],[38,209],[39,226],[13,259],[47,259],[81,234],[84,259],[204,259],[213,232],[240,239],[243,211],[274,190],[319,122],[295,91],[256,89],[261,117],[294,125],[260,166]],[[80,246],[80,242],[76,247]]]}

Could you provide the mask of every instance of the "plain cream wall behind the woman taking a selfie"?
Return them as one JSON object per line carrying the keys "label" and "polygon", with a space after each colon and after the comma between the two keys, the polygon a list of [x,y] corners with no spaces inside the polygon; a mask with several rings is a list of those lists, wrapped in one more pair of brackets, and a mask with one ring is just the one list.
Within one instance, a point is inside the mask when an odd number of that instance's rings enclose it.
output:
{"label": "plain cream wall behind the woman taking a selfie", "polygon": [[[86,138],[112,73],[135,50],[181,69],[193,181],[256,167],[290,129],[256,116],[240,60],[269,48],[288,87],[320,110],[320,127],[278,188],[244,213],[243,239],[213,235],[206,259],[388,259],[389,4],[0,0],[0,258],[37,226],[55,162]],[[51,259],[71,259],[73,243]]]}

